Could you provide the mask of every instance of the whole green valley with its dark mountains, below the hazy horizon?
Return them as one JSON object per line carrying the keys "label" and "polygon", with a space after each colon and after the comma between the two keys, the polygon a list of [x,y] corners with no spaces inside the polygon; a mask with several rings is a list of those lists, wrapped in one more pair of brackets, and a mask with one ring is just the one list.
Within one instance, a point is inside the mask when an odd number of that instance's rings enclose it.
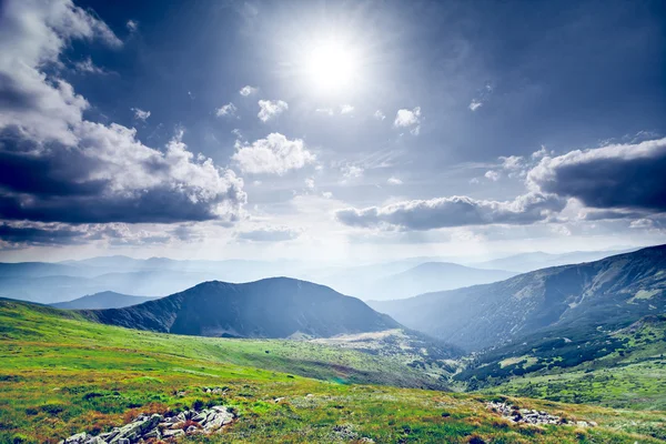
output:
{"label": "whole green valley with its dark mountains, below the hazy horizon", "polygon": [[150,440],[659,442],[665,255],[370,306],[289,278],[157,300],[107,292],[73,310],[0,300],[0,442],[112,436],[213,406],[228,415],[220,431],[164,422]]}

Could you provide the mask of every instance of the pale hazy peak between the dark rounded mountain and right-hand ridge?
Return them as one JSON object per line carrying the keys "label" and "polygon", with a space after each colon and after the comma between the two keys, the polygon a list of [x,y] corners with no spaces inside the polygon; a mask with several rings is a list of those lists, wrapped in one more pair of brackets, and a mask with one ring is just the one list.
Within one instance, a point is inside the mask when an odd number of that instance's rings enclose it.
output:
{"label": "pale hazy peak between the dark rounded mountain and right-hand ridge", "polygon": [[450,262],[426,262],[381,279],[359,295],[372,300],[405,299],[427,292],[497,282],[516,274],[503,270],[478,270]]}

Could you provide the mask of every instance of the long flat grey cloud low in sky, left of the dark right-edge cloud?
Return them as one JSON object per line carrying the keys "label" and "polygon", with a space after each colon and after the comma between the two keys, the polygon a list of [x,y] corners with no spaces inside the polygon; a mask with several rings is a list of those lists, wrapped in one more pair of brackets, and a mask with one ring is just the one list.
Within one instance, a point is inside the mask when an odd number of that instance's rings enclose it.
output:
{"label": "long flat grey cloud low in sky, left of the dark right-edge cloud", "polygon": [[335,216],[350,226],[425,231],[465,225],[531,224],[548,219],[564,205],[557,196],[539,193],[524,194],[507,202],[452,196],[361,210],[349,208],[339,210]]}

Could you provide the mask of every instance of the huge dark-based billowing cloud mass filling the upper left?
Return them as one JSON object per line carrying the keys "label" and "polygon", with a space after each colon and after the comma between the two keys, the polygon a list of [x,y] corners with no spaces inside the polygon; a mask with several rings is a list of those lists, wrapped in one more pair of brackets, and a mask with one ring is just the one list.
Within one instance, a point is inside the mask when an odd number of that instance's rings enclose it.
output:
{"label": "huge dark-based billowing cloud mass filling the upper left", "polygon": [[[157,150],[137,131],[83,119],[88,101],[58,70],[73,39],[122,44],[70,1],[10,1],[0,17],[0,219],[109,223],[235,220],[233,171],[195,158],[176,134]],[[148,111],[135,110],[139,118]],[[140,112],[139,112],[140,111]]]}

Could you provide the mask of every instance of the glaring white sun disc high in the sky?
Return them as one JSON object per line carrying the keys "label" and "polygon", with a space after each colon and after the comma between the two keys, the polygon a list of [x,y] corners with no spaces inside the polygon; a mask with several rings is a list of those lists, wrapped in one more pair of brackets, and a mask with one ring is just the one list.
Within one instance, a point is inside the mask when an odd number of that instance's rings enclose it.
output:
{"label": "glaring white sun disc high in the sky", "polygon": [[322,91],[340,90],[346,87],[356,63],[352,51],[335,41],[315,46],[309,54],[306,69],[314,85]]}

